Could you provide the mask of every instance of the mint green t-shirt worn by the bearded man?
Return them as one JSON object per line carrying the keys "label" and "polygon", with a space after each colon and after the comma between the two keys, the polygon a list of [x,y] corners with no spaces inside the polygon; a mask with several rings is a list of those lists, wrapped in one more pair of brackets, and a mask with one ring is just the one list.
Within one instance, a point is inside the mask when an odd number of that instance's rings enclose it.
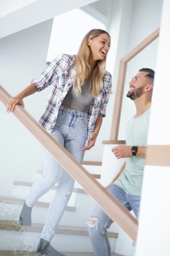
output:
{"label": "mint green t-shirt worn by the bearded man", "polygon": [[[126,145],[146,147],[149,126],[150,108],[140,117],[132,117],[126,129]],[[141,196],[143,169],[145,158],[130,156],[126,159],[126,167],[114,182],[128,194]]]}

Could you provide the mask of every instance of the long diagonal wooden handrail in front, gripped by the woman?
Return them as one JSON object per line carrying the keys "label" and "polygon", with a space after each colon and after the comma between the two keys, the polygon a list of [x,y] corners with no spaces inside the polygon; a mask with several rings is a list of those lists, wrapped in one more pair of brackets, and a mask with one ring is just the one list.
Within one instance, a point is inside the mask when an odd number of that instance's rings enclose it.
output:
{"label": "long diagonal wooden handrail in front, gripped by the woman", "polygon": [[[11,97],[0,86],[0,100],[6,106]],[[21,105],[12,112],[61,166],[85,189],[101,208],[136,242],[138,222],[75,158],[63,148]]]}

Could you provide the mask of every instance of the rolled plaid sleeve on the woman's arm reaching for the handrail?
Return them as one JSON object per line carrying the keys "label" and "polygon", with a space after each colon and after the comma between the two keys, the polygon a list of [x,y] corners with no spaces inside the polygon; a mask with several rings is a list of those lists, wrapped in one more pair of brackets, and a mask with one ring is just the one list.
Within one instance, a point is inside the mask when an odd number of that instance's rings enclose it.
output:
{"label": "rolled plaid sleeve on the woman's arm reaching for the handrail", "polygon": [[37,79],[32,80],[31,83],[37,86],[38,91],[42,91],[52,84],[57,74],[58,68],[60,67],[62,57],[63,54],[60,54],[50,63],[46,70],[42,72],[42,74]]}

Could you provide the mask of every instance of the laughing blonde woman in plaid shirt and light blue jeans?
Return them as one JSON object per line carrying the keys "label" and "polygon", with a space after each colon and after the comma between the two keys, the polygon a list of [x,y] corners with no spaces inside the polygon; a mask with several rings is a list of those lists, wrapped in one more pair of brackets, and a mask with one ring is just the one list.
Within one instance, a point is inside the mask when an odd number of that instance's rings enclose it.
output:
{"label": "laughing blonde woman in plaid shirt and light blue jeans", "polygon": [[[77,55],[59,55],[30,86],[10,98],[6,111],[12,112],[16,104],[24,107],[24,97],[52,84],[39,123],[82,164],[85,150],[95,145],[102,118],[106,115],[112,88],[111,74],[105,70],[109,47],[110,36],[106,31],[89,31]],[[42,159],[44,172],[26,197],[19,223],[31,225],[34,203],[58,182],[37,252],[61,256],[50,241],[72,194],[74,180],[43,146]]]}

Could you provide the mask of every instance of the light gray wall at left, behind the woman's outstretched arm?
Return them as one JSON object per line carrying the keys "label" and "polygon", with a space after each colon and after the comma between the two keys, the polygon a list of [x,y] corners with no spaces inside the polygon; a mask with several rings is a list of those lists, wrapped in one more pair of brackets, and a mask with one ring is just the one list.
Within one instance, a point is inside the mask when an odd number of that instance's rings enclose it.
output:
{"label": "light gray wall at left, behind the woman's outstretched arm", "polygon": [[[0,85],[12,96],[27,87],[46,68],[53,19],[0,39]],[[25,109],[38,120],[49,89],[24,99]],[[34,181],[42,169],[39,142],[0,102],[0,194],[11,190],[14,180]],[[1,176],[1,177],[2,177]],[[12,193],[12,192],[10,192]]]}

